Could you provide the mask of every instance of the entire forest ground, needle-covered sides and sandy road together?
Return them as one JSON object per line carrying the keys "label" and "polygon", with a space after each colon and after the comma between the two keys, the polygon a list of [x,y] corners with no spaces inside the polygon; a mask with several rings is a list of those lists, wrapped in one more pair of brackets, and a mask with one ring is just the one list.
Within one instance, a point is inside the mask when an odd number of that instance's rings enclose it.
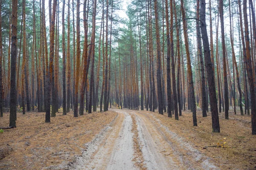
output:
{"label": "entire forest ground, needle-covered sides and sandy road together", "polygon": [[[17,128],[0,133],[0,148],[12,148],[0,169],[256,169],[250,116],[231,110],[226,120],[220,113],[221,133],[212,133],[210,113],[198,111],[194,127],[188,111],[177,121],[166,113],[109,110],[78,118],[58,113],[49,124],[44,113],[18,113]],[[6,113],[0,127],[8,122]]]}

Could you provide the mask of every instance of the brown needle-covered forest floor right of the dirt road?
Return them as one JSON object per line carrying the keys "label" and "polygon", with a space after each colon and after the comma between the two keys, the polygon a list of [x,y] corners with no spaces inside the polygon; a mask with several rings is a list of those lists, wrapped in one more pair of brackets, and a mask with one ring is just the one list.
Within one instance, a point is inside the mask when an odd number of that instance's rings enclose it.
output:
{"label": "brown needle-covered forest floor right of the dirt road", "polygon": [[[230,111],[230,119],[226,120],[224,113],[219,113],[221,133],[212,133],[212,120],[210,113],[202,117],[197,111],[198,126],[193,126],[192,113],[183,111],[179,121],[168,118],[166,113],[149,112],[159,118],[163,125],[171,131],[183,136],[186,141],[212,157],[221,169],[256,169],[256,136],[251,135],[250,116],[234,115]],[[218,147],[205,146],[217,145]]]}

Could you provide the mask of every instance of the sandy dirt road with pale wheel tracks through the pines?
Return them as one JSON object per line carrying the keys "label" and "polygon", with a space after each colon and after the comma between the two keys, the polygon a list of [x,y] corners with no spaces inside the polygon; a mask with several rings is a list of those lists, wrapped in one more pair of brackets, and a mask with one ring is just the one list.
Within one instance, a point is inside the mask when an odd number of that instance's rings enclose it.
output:
{"label": "sandy dirt road with pale wheel tracks through the pines", "polygon": [[146,111],[118,110],[106,127],[77,156],[73,169],[217,170],[213,161]]}

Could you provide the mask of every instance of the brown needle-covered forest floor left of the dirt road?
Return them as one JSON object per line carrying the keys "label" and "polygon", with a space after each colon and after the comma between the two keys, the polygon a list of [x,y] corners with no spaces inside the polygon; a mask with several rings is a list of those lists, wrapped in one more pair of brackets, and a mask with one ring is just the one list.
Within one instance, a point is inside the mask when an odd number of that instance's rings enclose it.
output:
{"label": "brown needle-covered forest floor left of the dirt road", "polygon": [[[57,113],[45,123],[45,113],[17,113],[17,128],[0,133],[0,146],[7,144],[13,151],[0,161],[0,169],[35,170],[74,161],[84,144],[117,115],[115,112],[92,113],[73,117]],[[9,114],[0,118],[0,127],[9,125]]]}

